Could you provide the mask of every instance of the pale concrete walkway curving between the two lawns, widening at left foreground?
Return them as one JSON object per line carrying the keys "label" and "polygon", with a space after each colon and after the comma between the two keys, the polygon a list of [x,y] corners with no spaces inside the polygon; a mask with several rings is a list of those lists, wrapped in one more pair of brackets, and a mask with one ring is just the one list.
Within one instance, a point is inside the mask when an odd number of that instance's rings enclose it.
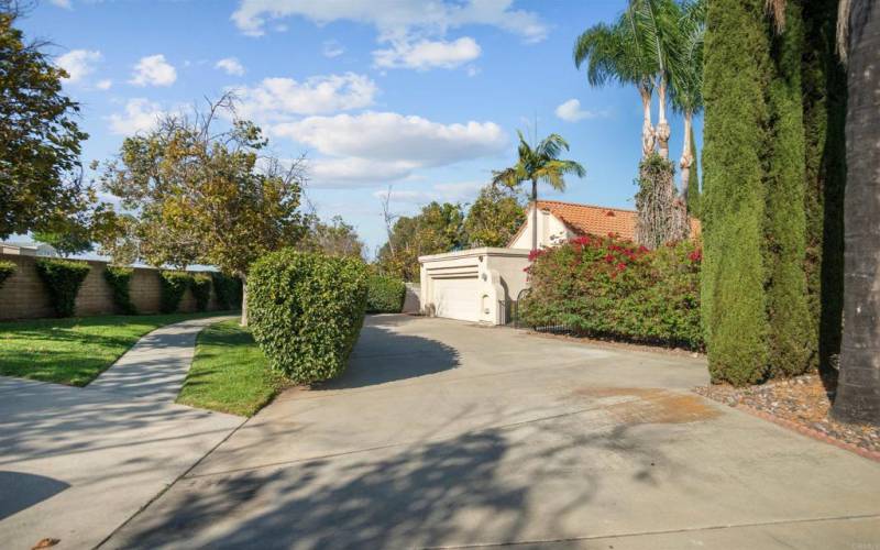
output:
{"label": "pale concrete walkway curving between the two lawns, widening at left foreground", "polygon": [[86,388],[0,377],[0,547],[98,544],[244,421],[174,404],[218,320],[147,334]]}

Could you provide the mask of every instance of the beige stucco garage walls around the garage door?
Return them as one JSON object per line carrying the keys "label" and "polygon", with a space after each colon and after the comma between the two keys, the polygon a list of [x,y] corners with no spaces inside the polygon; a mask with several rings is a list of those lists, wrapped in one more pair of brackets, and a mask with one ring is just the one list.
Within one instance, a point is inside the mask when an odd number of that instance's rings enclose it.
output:
{"label": "beige stucco garage walls around the garage door", "polygon": [[528,255],[528,250],[482,248],[419,257],[422,312],[439,312],[435,293],[438,279],[469,279],[475,292],[459,296],[462,300],[472,300],[469,320],[490,324],[504,322],[505,308],[527,285],[524,270],[529,263]]}

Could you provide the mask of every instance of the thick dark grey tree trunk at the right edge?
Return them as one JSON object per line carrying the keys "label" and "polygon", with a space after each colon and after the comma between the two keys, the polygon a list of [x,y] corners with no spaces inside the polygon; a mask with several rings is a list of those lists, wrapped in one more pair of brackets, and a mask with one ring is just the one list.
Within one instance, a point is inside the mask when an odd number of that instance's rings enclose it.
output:
{"label": "thick dark grey tree trunk at the right edge", "polygon": [[[844,338],[832,416],[880,424],[880,7],[853,0],[848,21],[844,198]],[[847,22],[844,22],[847,23]]]}

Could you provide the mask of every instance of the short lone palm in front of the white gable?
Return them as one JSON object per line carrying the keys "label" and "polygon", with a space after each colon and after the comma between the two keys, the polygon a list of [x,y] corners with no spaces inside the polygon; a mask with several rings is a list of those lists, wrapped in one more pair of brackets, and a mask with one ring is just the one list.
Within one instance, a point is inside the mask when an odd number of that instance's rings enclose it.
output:
{"label": "short lone palm in front of the white gable", "polygon": [[519,160],[503,170],[493,172],[492,183],[514,188],[522,182],[531,182],[531,250],[538,250],[538,182],[549,184],[558,191],[565,190],[565,176],[574,174],[584,177],[586,170],[574,161],[559,158],[562,151],[569,150],[569,143],[559,134],[550,134],[535,147],[526,142],[522,132],[519,135]]}

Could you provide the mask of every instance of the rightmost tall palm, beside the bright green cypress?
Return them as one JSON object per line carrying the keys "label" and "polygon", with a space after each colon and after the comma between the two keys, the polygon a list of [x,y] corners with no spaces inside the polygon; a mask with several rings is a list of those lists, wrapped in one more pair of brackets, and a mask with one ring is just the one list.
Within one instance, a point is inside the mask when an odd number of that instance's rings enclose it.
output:
{"label": "rightmost tall palm, beside the bright green cypress", "polygon": [[698,0],[686,4],[679,24],[678,58],[671,72],[672,108],[684,118],[680,200],[688,208],[691,166],[694,163],[693,119],[703,110],[703,42],[706,34],[706,7]]}

